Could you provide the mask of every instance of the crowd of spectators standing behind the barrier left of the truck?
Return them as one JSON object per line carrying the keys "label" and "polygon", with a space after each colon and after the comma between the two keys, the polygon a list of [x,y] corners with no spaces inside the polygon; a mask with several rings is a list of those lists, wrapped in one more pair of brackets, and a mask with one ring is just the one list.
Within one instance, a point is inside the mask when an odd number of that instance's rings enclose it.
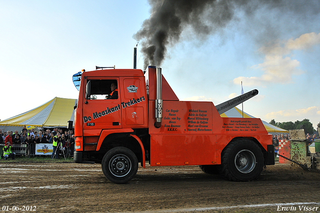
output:
{"label": "crowd of spectators standing behind the barrier left of the truck", "polygon": [[63,132],[62,129],[54,128],[52,132],[50,129],[37,132],[34,129],[27,130],[26,126],[22,128],[20,133],[17,130],[14,133],[12,131],[2,132],[0,129],[0,144],[9,142],[11,146],[13,144],[26,144],[29,147],[36,143],[53,143],[53,133],[59,137],[61,148],[64,150],[70,150],[70,147],[74,145],[75,139],[72,130]]}

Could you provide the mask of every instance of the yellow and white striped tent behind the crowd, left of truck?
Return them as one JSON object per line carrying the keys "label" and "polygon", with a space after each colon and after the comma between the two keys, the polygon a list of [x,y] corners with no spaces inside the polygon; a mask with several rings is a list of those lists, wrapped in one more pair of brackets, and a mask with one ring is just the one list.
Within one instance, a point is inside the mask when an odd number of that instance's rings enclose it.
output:
{"label": "yellow and white striped tent behind the crowd, left of truck", "polygon": [[33,126],[33,127],[66,127],[69,120],[74,121],[74,104],[76,99],[53,98],[52,100],[0,122],[1,127],[6,126]]}

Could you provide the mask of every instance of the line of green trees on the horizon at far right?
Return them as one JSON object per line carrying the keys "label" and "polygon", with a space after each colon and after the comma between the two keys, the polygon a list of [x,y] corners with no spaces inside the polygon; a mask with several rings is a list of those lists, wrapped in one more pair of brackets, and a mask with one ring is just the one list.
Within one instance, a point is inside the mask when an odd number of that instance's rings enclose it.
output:
{"label": "line of green trees on the horizon at far right", "polygon": [[[303,119],[301,121],[287,121],[287,122],[275,122],[274,119],[272,119],[269,124],[272,124],[273,126],[279,127],[281,129],[285,130],[291,130],[291,129],[300,129],[302,125],[304,125],[304,132],[313,134],[313,131],[316,131],[313,129],[312,123],[309,121],[309,119]],[[317,124],[317,126],[320,126],[320,123]]]}

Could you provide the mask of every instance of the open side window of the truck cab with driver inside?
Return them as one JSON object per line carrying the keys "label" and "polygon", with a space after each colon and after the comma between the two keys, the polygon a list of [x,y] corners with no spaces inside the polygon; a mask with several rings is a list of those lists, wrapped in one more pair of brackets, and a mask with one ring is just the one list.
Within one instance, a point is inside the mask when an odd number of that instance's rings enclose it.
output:
{"label": "open side window of the truck cab with driver inside", "polygon": [[90,97],[91,100],[118,99],[118,84],[114,79],[110,80],[92,80],[90,79]]}

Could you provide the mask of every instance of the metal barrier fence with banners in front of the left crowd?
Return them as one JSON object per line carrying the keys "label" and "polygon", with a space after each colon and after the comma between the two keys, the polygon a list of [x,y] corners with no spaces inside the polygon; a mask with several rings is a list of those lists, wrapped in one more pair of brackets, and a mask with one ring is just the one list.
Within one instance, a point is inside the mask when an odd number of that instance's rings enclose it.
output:
{"label": "metal barrier fence with banners in front of the left crowd", "polygon": [[[36,150],[36,146],[37,143],[31,143],[31,144],[12,144],[12,148],[11,151],[15,153],[16,156],[19,155],[25,155],[25,156],[38,156],[38,155],[51,155],[52,154],[52,150],[48,149],[47,147],[50,145],[52,145],[52,143],[43,143],[43,146],[46,147],[46,150],[43,149],[43,147],[41,149],[37,149]],[[38,144],[39,145],[39,144]],[[3,146],[5,146],[4,143],[0,144],[0,156],[3,156]],[[65,148],[58,148],[59,149],[59,153],[62,155],[64,153],[65,157],[69,157],[69,156],[73,156],[73,152],[74,152],[74,144],[70,145],[70,147],[65,147]],[[42,152],[38,152],[38,151],[43,150]],[[63,150],[63,151],[62,151]]]}

